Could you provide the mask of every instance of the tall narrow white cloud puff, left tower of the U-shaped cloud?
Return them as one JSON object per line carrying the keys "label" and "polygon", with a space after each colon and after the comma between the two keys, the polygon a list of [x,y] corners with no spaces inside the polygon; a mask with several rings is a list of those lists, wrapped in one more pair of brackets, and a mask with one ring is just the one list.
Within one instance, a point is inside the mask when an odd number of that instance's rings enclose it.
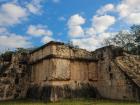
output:
{"label": "tall narrow white cloud puff, left tower of the U-shaped cloud", "polygon": [[82,24],[85,23],[85,19],[80,16],[79,14],[75,14],[70,17],[68,20],[68,28],[69,32],[68,34],[71,37],[81,37],[84,35],[84,30],[81,27]]}

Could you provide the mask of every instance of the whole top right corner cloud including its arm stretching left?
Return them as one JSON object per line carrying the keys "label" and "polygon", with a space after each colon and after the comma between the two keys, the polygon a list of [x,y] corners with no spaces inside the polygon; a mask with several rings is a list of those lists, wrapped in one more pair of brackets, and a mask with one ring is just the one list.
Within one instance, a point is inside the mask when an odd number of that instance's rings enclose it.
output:
{"label": "whole top right corner cloud including its arm stretching left", "polygon": [[105,15],[108,12],[119,14],[119,21],[127,24],[140,24],[140,0],[121,0],[119,4],[106,4],[99,10],[97,15]]}

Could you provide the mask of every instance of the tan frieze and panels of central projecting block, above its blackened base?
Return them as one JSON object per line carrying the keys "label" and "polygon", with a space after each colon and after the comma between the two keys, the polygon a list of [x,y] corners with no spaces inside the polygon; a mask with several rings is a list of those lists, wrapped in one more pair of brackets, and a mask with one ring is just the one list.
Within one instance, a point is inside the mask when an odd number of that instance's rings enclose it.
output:
{"label": "tan frieze and panels of central projecting block, above its blackened base", "polygon": [[95,74],[97,66],[92,53],[83,49],[70,48],[62,43],[50,43],[32,52],[30,63],[31,80],[36,83],[97,79]]}

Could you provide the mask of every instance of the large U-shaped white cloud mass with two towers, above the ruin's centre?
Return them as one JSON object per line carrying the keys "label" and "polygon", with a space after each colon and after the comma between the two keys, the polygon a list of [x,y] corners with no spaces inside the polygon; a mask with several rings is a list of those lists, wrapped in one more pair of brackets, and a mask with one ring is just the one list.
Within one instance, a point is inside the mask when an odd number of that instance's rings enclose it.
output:
{"label": "large U-shaped white cloud mass with two towers, above the ruin's centre", "polygon": [[72,15],[68,21],[69,34],[74,45],[87,50],[95,50],[101,47],[104,39],[112,36],[113,33],[106,32],[116,22],[114,16],[95,15],[92,18],[91,26],[82,28],[85,19],[78,15]]}

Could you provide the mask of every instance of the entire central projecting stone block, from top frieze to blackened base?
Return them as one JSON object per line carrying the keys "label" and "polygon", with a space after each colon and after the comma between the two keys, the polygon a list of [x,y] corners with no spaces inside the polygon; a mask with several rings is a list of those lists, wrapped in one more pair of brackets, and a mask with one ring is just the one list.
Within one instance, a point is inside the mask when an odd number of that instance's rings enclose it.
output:
{"label": "entire central projecting stone block, from top frieze to blackened base", "polygon": [[96,89],[91,81],[97,80],[97,66],[92,56],[92,53],[86,50],[71,48],[62,43],[50,43],[32,52],[31,88],[28,97],[35,98],[33,93],[41,91],[41,94],[45,87],[45,90],[50,88],[50,93],[47,91],[50,97],[44,98],[50,100],[62,97],[95,97]]}

